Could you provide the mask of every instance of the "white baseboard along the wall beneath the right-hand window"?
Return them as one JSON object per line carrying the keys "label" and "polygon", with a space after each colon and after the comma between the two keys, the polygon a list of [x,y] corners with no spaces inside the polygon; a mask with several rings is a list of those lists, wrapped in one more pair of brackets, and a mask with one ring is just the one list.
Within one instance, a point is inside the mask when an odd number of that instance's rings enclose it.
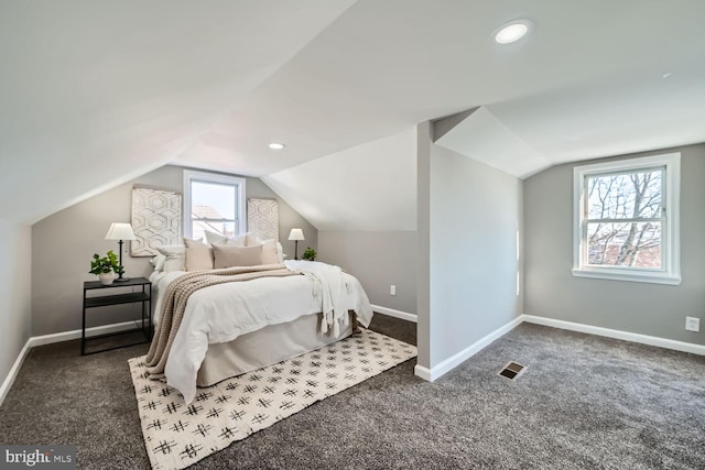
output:
{"label": "white baseboard along the wall beneath the right-hand window", "polygon": [[659,348],[673,349],[675,351],[705,356],[705,346],[695,345],[693,342],[676,341],[674,339],[659,338],[657,336],[640,335],[637,332],[595,327],[592,325],[576,324],[573,321],[556,320],[554,318],[538,317],[535,315],[522,315],[520,318],[522,319],[522,321],[527,321],[528,324],[543,325],[546,327],[566,329],[571,331],[586,332],[589,335],[622,339],[625,341],[639,342],[642,345],[657,346]]}

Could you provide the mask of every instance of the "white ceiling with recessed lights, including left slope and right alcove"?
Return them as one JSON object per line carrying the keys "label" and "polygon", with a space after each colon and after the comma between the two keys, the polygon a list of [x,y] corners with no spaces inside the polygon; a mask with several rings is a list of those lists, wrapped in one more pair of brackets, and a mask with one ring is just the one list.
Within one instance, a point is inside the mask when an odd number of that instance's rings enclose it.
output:
{"label": "white ceiling with recessed lights, including left slope and right alcove", "polygon": [[[517,18],[532,34],[494,44]],[[543,166],[703,142],[704,21],[702,0],[2,2],[0,217],[165,163],[296,187],[296,165],[345,167],[346,149],[475,107]],[[468,156],[542,167],[495,141]]]}

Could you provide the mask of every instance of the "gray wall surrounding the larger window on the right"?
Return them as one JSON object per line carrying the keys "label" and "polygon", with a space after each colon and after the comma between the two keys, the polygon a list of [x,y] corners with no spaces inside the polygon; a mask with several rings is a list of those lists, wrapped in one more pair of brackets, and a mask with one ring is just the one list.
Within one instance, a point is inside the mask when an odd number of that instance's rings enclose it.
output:
{"label": "gray wall surrounding the larger window on the right", "polygon": [[[524,183],[524,313],[705,345],[705,332],[684,329],[685,316],[705,320],[705,144],[628,156],[676,151],[681,152],[681,285],[574,277],[575,164],[560,165]],[[579,164],[585,163],[590,162]]]}

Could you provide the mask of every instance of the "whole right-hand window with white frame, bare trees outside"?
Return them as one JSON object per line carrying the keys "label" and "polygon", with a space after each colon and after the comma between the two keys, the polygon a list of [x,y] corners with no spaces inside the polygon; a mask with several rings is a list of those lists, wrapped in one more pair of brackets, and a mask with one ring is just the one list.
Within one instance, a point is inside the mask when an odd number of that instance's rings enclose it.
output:
{"label": "whole right-hand window with white frame, bare trees outside", "polygon": [[576,166],[573,275],[680,284],[681,154]]}

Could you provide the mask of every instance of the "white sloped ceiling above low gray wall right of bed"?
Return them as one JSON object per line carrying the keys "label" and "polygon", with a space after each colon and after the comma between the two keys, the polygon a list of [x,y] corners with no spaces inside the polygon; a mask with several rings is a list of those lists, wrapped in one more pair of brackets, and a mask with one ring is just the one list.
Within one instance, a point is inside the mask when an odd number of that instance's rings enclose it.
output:
{"label": "white sloped ceiling above low gray wall right of bed", "polygon": [[318,230],[416,230],[416,130],[263,176]]}

